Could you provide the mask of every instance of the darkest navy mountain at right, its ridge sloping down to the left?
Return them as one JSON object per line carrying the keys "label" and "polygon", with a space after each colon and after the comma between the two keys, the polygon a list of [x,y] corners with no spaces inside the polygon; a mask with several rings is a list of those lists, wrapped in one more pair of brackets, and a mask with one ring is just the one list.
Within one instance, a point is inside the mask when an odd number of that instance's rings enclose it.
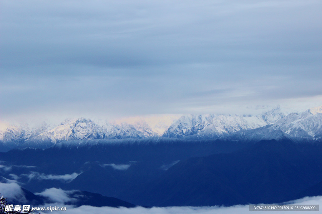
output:
{"label": "darkest navy mountain at right, its ridge sloping down to the left", "polygon": [[141,197],[136,202],[149,200],[147,205],[156,206],[230,206],[294,200],[320,181],[321,154],[319,143],[273,140],[233,153],[189,158],[169,168],[147,188],[143,197],[148,195],[150,199]]}

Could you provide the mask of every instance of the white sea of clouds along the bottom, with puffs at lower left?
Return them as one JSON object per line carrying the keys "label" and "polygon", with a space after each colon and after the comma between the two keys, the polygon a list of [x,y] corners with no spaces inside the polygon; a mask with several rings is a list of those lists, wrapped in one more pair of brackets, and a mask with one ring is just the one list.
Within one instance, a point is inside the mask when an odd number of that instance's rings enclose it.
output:
{"label": "white sea of clouds along the bottom, with puffs at lower left", "polygon": [[[71,205],[65,205],[65,202],[70,202],[75,200],[74,198],[70,198],[68,193],[72,191],[65,191],[57,188],[50,188],[44,190],[42,193],[35,193],[36,195],[42,195],[53,203],[41,205],[41,207],[66,207],[66,211],[61,210],[53,210],[53,211],[42,211],[42,213],[69,213],[69,214],[88,214],[88,213],[109,213],[109,214],[263,214],[263,211],[249,211],[249,205],[235,205],[230,207],[224,206],[204,206],[204,207],[152,207],[152,208],[144,208],[144,207],[135,207],[135,208],[113,208],[113,207],[92,207],[92,206],[81,206],[74,207]],[[21,187],[17,183],[1,183],[0,182],[0,193],[7,198],[14,199],[22,199],[25,201],[26,199],[23,196]],[[302,199],[294,200],[286,202],[285,204],[301,204],[301,205],[318,205],[322,204],[322,196],[314,196],[314,197],[305,197]],[[264,214],[274,213],[274,214],[285,214],[286,211],[265,211]],[[287,214],[291,213],[308,213],[313,214],[316,211],[287,211]]]}

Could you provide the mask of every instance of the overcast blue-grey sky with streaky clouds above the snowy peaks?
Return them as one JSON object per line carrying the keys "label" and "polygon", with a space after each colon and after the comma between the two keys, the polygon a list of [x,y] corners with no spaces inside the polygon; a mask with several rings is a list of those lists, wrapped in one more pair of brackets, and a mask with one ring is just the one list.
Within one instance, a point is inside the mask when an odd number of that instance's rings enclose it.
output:
{"label": "overcast blue-grey sky with streaky clouds above the snowy peaks", "polygon": [[0,120],[322,105],[322,1],[0,2]]}

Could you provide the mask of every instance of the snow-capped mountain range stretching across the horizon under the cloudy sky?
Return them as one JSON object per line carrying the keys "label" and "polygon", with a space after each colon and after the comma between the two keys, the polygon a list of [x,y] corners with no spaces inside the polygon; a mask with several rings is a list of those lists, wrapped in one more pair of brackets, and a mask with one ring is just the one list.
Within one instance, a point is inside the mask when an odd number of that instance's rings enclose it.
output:
{"label": "snow-capped mountain range stretching across the horizon under the cloudy sky", "polygon": [[[151,123],[150,123],[151,124]],[[260,115],[183,115],[174,120],[164,132],[156,130],[143,119],[132,124],[95,123],[90,119],[66,119],[58,126],[42,124],[38,128],[27,125],[9,126],[0,131],[0,147],[15,148],[57,142],[93,139],[143,139],[152,137],[182,139],[270,140],[301,138],[322,140],[322,106],[298,114],[284,115],[274,108]],[[163,124],[164,127],[164,124]],[[0,148],[0,149],[1,149]],[[3,149],[1,149],[3,150]]]}

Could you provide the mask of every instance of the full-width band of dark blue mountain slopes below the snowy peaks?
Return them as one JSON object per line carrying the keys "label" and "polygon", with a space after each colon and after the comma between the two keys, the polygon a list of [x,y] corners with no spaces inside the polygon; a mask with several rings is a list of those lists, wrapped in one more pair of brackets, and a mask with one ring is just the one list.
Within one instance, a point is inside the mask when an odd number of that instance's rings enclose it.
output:
{"label": "full-width band of dark blue mountain slopes below the snowy peaks", "polygon": [[[296,199],[321,181],[318,141],[162,139],[74,141],[45,150],[11,150],[0,153],[2,165],[11,167],[0,174],[17,175],[34,193],[76,189],[146,206],[279,203]],[[32,173],[39,179],[30,180]],[[54,176],[72,178],[40,179]]]}

